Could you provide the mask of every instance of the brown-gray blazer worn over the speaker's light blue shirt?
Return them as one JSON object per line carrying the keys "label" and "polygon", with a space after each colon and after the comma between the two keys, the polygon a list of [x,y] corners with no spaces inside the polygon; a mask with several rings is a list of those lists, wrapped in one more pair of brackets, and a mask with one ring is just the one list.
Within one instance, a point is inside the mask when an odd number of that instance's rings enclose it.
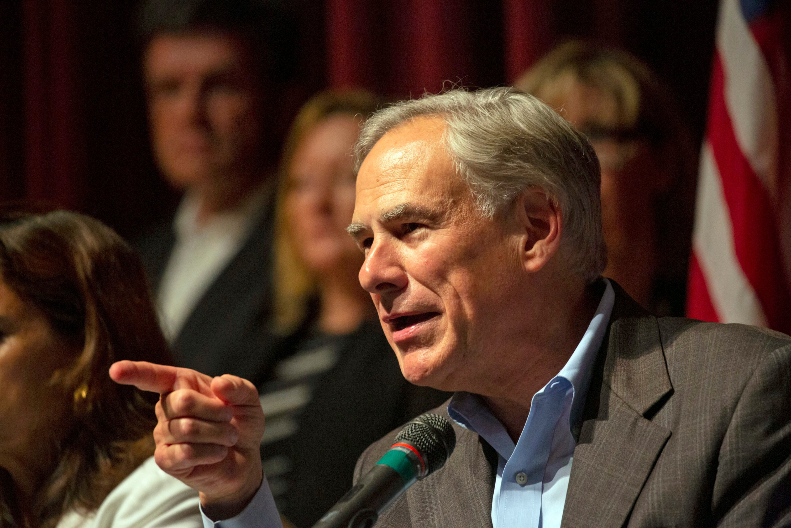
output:
{"label": "brown-gray blazer worn over the speaker's light blue shirt", "polygon": [[[563,528],[791,526],[791,338],[653,317],[613,285]],[[407,490],[377,528],[491,526],[497,454],[453,425],[448,463]],[[365,451],[355,479],[394,434]]]}

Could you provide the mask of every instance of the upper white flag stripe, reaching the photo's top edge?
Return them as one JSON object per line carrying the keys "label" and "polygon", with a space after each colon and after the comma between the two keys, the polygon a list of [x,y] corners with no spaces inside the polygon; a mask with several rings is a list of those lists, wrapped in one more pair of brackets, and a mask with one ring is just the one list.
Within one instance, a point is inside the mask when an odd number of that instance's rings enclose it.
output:
{"label": "upper white flag stripe, reaching the photo's top edge", "polygon": [[774,83],[739,0],[722,0],[717,48],[725,71],[725,104],[736,141],[769,195],[777,195],[778,116]]}

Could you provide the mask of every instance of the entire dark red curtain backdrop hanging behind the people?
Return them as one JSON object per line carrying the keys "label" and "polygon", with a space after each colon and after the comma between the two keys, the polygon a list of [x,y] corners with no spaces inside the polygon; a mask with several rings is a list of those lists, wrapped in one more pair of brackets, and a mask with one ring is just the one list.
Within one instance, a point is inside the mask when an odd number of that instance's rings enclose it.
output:
{"label": "entire dark red curtain backdrop hanging behind the people", "polygon": [[[175,203],[148,145],[137,3],[0,2],[0,200],[74,208],[131,237]],[[653,66],[702,137],[717,0],[280,4],[296,21],[300,101],[327,86],[400,98],[448,81],[503,85],[559,40],[581,37]],[[296,106],[289,97],[283,105]]]}

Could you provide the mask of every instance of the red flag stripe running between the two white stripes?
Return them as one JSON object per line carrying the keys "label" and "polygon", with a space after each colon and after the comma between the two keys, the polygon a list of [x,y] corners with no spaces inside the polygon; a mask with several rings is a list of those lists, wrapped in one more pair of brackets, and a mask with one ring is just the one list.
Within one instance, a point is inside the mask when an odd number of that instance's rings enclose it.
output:
{"label": "red flag stripe running between the two white stripes", "polygon": [[791,296],[782,271],[774,204],[736,141],[718,52],[714,54],[706,135],[728,204],[736,260],[755,290],[770,328],[787,332],[791,329]]}

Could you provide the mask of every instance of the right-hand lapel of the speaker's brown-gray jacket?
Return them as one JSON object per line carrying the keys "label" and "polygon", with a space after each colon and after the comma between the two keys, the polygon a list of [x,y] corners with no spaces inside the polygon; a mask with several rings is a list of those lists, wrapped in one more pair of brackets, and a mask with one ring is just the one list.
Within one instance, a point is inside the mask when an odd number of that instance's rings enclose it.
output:
{"label": "right-hand lapel of the speaker's brown-gray jacket", "polygon": [[623,526],[670,437],[650,421],[672,393],[657,319],[613,287],[615,306],[585,402],[563,528]]}

